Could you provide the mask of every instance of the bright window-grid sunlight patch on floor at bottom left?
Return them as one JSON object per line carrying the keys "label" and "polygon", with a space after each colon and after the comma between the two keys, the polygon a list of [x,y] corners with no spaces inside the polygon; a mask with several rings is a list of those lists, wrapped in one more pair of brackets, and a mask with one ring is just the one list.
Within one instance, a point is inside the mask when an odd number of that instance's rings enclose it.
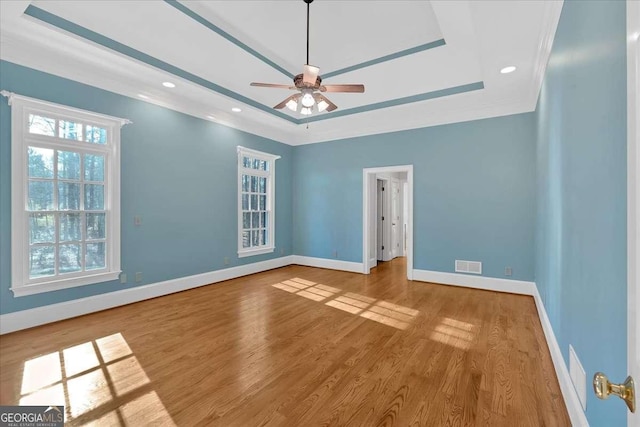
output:
{"label": "bright window-grid sunlight patch on floor at bottom left", "polygon": [[[140,396],[150,384],[117,333],[26,360],[19,404],[64,406],[67,422],[81,418],[83,424],[136,425],[151,417],[175,425],[155,391]],[[102,414],[114,399],[121,400],[120,407]]]}

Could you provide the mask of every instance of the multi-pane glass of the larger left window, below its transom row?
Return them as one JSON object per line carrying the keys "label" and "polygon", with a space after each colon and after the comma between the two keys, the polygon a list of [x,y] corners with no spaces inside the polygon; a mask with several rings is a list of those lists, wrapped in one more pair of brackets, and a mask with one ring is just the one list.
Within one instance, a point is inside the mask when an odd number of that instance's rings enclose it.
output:
{"label": "multi-pane glass of the larger left window, below its transom row", "polygon": [[29,279],[106,269],[107,155],[34,145],[27,153]]}

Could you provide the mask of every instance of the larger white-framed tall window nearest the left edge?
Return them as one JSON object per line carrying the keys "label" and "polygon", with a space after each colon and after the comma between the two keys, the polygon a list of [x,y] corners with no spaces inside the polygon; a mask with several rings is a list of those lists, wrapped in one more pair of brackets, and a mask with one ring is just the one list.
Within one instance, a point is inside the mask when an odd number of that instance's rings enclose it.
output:
{"label": "larger white-framed tall window nearest the left edge", "polygon": [[12,115],[12,291],[116,279],[126,121],[4,94]]}

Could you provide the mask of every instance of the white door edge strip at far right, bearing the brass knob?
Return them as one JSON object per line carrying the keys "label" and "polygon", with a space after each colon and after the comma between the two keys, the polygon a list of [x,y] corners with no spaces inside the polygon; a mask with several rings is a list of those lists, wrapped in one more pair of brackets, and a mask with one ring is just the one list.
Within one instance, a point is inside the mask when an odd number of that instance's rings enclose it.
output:
{"label": "white door edge strip at far right, bearing the brass knob", "polygon": [[[627,0],[627,372],[640,394],[640,2]],[[640,427],[640,410],[627,413]]]}

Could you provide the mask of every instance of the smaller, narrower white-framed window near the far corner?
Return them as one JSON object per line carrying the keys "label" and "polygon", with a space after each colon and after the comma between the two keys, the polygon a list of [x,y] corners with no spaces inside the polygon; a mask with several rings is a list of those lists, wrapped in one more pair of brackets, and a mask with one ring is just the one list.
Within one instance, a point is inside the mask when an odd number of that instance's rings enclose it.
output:
{"label": "smaller, narrower white-framed window near the far corner", "polygon": [[238,256],[275,248],[275,162],[280,156],[238,147]]}

